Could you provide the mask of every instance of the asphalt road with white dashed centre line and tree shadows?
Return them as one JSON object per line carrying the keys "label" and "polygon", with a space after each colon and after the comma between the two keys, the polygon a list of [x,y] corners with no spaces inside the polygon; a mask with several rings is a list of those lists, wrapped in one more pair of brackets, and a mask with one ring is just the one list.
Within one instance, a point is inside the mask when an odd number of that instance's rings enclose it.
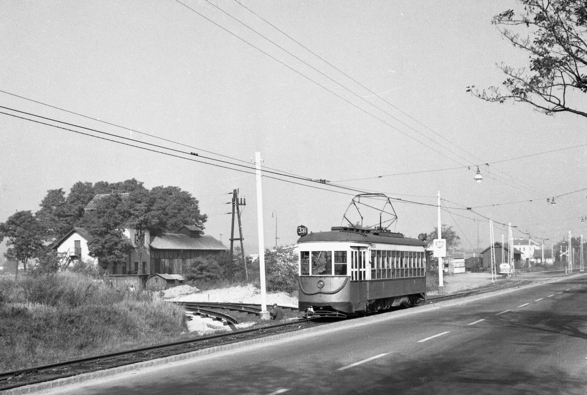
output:
{"label": "asphalt road with white dashed centre line and tree shadows", "polygon": [[586,340],[575,276],[47,393],[586,394]]}

